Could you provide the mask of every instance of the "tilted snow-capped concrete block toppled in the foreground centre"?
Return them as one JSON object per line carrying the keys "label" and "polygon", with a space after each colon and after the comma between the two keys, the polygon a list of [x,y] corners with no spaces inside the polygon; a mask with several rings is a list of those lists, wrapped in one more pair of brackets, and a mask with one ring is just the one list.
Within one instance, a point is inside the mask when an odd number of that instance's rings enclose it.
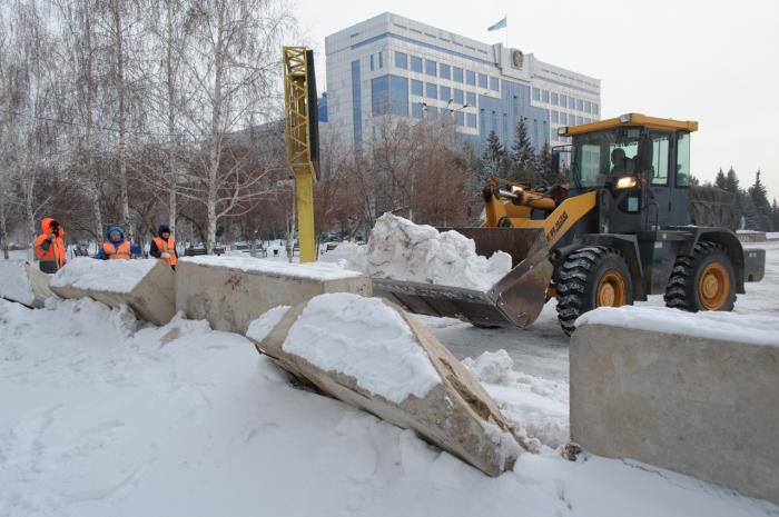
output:
{"label": "tilted snow-capped concrete block toppled in the foreground centre", "polygon": [[470,371],[386,300],[317,296],[266,312],[247,337],[323,392],[412,429],[490,476],[513,468],[526,450]]}

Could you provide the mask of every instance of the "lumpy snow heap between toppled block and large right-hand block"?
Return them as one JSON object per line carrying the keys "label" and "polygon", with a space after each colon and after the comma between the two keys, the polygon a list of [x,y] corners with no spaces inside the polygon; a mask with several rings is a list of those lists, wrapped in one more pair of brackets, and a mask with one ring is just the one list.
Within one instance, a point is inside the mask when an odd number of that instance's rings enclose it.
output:
{"label": "lumpy snow heap between toppled block and large right-hand block", "polygon": [[485,351],[463,365],[484,386],[512,426],[534,451],[556,449],[569,441],[568,386],[514,370],[514,361],[501,349]]}

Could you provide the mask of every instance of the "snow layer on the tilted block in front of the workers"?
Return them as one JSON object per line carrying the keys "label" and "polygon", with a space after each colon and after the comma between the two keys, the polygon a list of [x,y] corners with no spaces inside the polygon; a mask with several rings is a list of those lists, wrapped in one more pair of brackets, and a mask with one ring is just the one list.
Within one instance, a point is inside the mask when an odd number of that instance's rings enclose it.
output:
{"label": "snow layer on the tilted block in front of the workers", "polygon": [[157,259],[96,260],[77,257],[57,271],[50,285],[85,290],[131,292],[158,262]]}

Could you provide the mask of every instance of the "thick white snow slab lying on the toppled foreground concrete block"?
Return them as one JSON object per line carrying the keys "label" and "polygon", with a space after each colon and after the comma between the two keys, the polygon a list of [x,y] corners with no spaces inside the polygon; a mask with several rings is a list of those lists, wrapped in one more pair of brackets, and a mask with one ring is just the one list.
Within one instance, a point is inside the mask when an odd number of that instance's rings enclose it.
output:
{"label": "thick white snow slab lying on the toppled foreground concrete block", "polygon": [[442,382],[408,325],[378,298],[348,292],[313,298],[283,347],[396,404],[411,395],[423,398]]}

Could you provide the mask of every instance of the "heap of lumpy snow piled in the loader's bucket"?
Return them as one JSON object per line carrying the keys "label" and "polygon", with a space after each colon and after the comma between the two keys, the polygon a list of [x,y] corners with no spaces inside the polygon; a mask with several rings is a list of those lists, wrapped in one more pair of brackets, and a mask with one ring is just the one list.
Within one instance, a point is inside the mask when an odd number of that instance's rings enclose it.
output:
{"label": "heap of lumpy snow piled in the loader's bucket", "polygon": [[341,260],[372,277],[481,291],[511,270],[509,253],[497,251],[487,259],[476,255],[473,239],[462,233],[438,232],[388,212],[376,220],[367,247],[343,242],[323,259]]}

